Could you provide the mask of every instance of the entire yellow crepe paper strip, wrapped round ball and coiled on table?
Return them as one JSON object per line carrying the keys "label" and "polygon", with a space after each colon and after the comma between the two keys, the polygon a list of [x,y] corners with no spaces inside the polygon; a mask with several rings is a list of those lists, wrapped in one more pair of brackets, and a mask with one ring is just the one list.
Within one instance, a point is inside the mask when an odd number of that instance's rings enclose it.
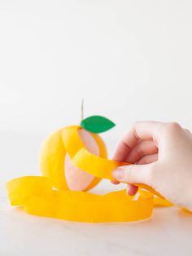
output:
{"label": "entire yellow crepe paper strip, wrapped round ball and coiled on table", "polygon": [[[127,196],[124,190],[103,196],[68,190],[63,169],[67,152],[74,166],[96,177],[85,190],[93,188],[100,179],[111,179],[112,170],[127,164],[107,160],[105,145],[98,135],[93,136],[100,156],[89,153],[81,142],[78,129],[81,126],[56,131],[43,143],[40,166],[44,177],[24,176],[7,183],[11,205],[24,206],[28,214],[79,222],[129,222],[150,218],[155,205],[151,192],[139,189],[135,199]],[[158,197],[156,204],[168,206],[168,201]]]}

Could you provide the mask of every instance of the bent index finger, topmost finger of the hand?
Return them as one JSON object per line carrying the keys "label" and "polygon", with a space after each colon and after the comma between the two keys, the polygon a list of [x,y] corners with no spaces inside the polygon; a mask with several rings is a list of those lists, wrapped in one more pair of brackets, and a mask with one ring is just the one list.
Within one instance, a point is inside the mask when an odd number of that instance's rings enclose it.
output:
{"label": "bent index finger, topmost finger of the hand", "polygon": [[133,124],[131,130],[117,144],[114,160],[125,161],[140,139],[150,139],[155,144],[158,143],[160,124],[157,121],[138,121]]}

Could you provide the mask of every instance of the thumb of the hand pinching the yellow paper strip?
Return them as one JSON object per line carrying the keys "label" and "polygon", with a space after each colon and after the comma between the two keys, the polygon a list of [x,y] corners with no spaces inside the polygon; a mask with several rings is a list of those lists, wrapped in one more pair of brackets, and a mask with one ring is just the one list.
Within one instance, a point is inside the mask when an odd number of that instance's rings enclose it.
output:
{"label": "thumb of the hand pinching the yellow paper strip", "polygon": [[113,177],[122,183],[151,183],[153,163],[146,165],[120,166],[112,171]]}

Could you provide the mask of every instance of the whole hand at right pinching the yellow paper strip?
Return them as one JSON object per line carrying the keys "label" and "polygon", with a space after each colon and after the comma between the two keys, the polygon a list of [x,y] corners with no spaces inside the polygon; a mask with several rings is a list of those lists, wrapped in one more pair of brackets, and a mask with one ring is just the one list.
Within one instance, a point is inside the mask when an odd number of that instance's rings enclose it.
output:
{"label": "whole hand at right pinching the yellow paper strip", "polygon": [[169,201],[192,210],[192,135],[189,130],[177,123],[138,121],[117,145],[114,160],[134,164],[113,171],[117,181],[130,183],[129,195],[137,192],[137,187],[131,183],[145,183]]}

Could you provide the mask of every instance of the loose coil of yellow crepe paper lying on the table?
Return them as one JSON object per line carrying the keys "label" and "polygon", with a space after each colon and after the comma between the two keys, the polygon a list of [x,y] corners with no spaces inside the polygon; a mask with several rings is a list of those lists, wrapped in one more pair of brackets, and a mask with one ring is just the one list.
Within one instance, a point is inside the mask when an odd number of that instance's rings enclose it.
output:
{"label": "loose coil of yellow crepe paper lying on the table", "polygon": [[110,192],[104,196],[54,191],[46,177],[11,180],[7,183],[7,191],[11,205],[24,206],[28,214],[79,222],[136,221],[149,218],[153,209],[153,196],[149,192],[143,192],[134,201],[133,196],[126,196],[125,191]]}

